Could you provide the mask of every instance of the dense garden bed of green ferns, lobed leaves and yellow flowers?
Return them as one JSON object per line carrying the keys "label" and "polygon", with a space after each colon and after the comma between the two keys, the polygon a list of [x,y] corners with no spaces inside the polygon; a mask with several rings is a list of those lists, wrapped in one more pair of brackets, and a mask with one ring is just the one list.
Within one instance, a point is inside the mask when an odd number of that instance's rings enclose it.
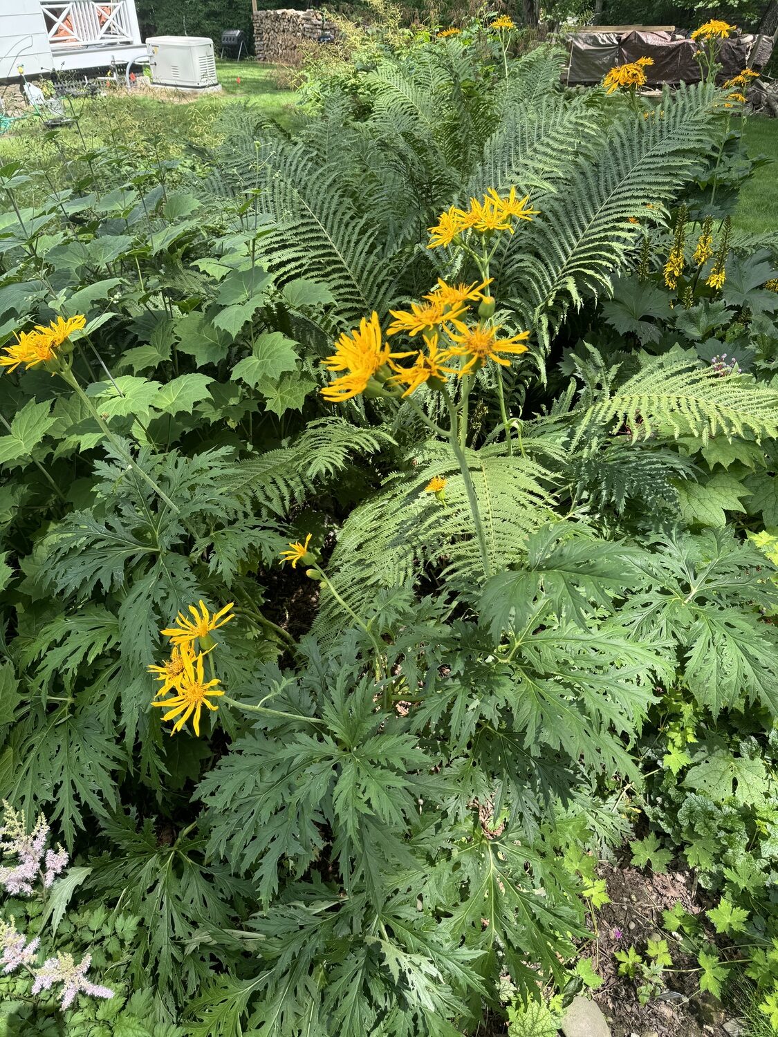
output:
{"label": "dense garden bed of green ferns, lobed leaves and yellow flowers", "polygon": [[778,1022],[776,234],[509,32],[0,168],[7,1033],[553,1032],[627,843]]}

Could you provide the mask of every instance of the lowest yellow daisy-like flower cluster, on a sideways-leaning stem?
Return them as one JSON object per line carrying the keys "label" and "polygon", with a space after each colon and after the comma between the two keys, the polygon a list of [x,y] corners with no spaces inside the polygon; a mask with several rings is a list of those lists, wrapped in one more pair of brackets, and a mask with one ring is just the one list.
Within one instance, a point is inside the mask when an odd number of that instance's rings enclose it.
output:
{"label": "lowest yellow daisy-like flower cluster, on a sideways-leaning stem", "polygon": [[[157,680],[162,682],[162,688],[155,697],[173,694],[172,698],[151,703],[152,706],[168,710],[163,714],[163,721],[177,718],[171,735],[180,731],[192,718],[194,732],[199,737],[202,707],[205,706],[215,712],[218,707],[209,699],[224,695],[219,688],[219,680],[214,675],[213,664],[211,671],[213,679],[205,680],[203,660],[216,647],[216,641],[211,637],[213,632],[233,618],[233,614],[230,613],[232,602],[213,615],[203,601],[198,604],[199,610],[194,605],[189,607],[192,619],[179,612],[175,617],[176,625],[161,630],[173,646],[170,658],[162,666],[148,667],[148,672],[156,674]],[[198,644],[198,651],[195,651],[195,643]]]}

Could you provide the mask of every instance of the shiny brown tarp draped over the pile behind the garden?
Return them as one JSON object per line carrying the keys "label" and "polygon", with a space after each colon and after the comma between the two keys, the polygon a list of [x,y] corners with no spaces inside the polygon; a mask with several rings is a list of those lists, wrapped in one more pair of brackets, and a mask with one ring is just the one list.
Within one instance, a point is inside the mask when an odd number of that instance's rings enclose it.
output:
{"label": "shiny brown tarp draped over the pile behind the garden", "polygon": [[[745,68],[755,40],[755,36],[733,36],[724,40],[719,53],[722,79]],[[651,86],[682,81],[696,83],[700,79],[700,66],[694,57],[699,47],[679,32],[639,29],[621,33],[576,32],[568,37],[566,47],[569,74],[565,73],[565,80],[568,83],[599,83],[609,68],[641,57],[654,59],[654,64],[644,69]],[[757,52],[752,55],[752,65],[757,69],[763,67],[771,51],[772,40],[766,41],[762,37]]]}

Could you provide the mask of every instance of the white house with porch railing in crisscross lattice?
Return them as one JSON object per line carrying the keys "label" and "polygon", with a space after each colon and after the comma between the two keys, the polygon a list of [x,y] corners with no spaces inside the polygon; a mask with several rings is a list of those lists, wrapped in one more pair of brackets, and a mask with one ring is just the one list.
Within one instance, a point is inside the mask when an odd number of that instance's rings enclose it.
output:
{"label": "white house with porch railing in crisscross lattice", "polygon": [[146,54],[135,0],[0,0],[0,80],[123,65]]}

